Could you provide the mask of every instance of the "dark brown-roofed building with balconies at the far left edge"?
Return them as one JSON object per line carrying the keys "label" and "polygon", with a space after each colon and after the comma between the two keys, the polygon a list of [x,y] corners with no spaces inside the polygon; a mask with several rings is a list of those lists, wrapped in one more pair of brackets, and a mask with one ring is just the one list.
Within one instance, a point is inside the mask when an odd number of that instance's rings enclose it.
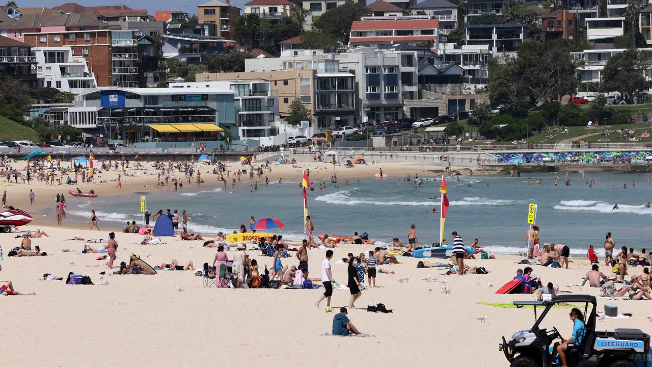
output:
{"label": "dark brown-roofed building with balconies at the far left edge", "polygon": [[36,57],[31,46],[19,40],[0,37],[0,76],[20,80],[37,89]]}

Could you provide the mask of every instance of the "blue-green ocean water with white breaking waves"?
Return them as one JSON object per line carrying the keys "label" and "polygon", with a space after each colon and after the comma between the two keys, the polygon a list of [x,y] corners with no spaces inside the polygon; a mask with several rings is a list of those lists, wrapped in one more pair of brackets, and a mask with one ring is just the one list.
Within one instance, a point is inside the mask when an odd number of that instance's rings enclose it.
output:
{"label": "blue-green ocean water with white breaking waves", "polygon": [[[460,176],[460,181],[448,178],[449,212],[445,235],[457,231],[466,242],[479,238],[481,246],[495,253],[516,253],[524,247],[527,230],[527,204],[538,205],[537,225],[541,227],[541,242],[556,242],[571,247],[571,253],[584,255],[589,244],[602,253],[605,232],[612,232],[616,245],[640,250],[652,249],[649,223],[652,208],[644,204],[652,200],[652,187],[645,182],[647,174],[572,173],[572,185],[565,186],[564,174],[560,185],[554,186],[556,174],[527,176]],[[423,178],[423,177],[422,177]],[[544,185],[535,185],[535,178]],[[370,239],[387,244],[393,237],[407,241],[409,225],[417,226],[419,244],[431,244],[439,236],[439,214],[428,214],[433,204],[439,208],[439,181],[432,176],[415,189],[412,182],[398,184],[398,177],[387,180],[351,180],[327,183],[324,190],[308,191],[308,214],[316,233],[326,232],[350,236],[354,231],[367,232]],[[589,188],[587,180],[599,185]],[[441,178],[438,178],[441,180]],[[636,180],[636,188],[632,188]],[[473,183],[471,187],[467,183]],[[318,186],[318,182],[314,182]],[[623,189],[627,184],[627,189]],[[256,219],[274,217],[286,224],[284,229],[271,231],[288,240],[303,239],[303,198],[299,181],[258,185],[250,193],[250,183],[244,181],[235,188],[187,187],[184,191],[147,191],[147,208],[151,212],[168,208],[186,210],[189,229],[214,234],[230,233],[241,224],[247,225],[250,215]],[[339,187],[339,190],[336,189]],[[95,209],[104,223],[122,227],[127,220],[142,222],[140,195],[97,200],[68,199],[68,220],[87,222]],[[437,199],[429,199],[436,197]],[[619,209],[612,210],[614,204]]]}

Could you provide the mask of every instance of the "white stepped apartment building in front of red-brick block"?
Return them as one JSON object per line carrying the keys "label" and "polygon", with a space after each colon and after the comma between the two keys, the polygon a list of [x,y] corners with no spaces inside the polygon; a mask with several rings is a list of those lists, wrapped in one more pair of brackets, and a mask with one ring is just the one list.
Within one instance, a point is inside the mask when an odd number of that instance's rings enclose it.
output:
{"label": "white stepped apartment building in front of red-brick block", "polygon": [[82,94],[97,88],[95,74],[82,55],[74,56],[70,46],[34,47],[40,86]]}

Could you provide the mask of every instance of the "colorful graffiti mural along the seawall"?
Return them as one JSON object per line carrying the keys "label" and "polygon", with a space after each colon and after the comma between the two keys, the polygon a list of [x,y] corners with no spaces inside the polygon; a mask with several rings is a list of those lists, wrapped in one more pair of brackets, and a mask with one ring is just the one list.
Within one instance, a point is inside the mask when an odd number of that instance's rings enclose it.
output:
{"label": "colorful graffiti mural along the seawall", "polygon": [[501,163],[561,163],[568,159],[577,159],[584,163],[612,161],[614,159],[645,161],[645,157],[652,156],[652,150],[625,150],[612,152],[552,152],[552,153],[491,153]]}

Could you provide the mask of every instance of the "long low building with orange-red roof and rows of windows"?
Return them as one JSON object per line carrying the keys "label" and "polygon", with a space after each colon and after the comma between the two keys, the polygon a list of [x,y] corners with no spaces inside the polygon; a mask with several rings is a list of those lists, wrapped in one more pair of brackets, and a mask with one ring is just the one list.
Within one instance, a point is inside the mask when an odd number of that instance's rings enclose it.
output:
{"label": "long low building with orange-red roof and rows of windows", "polygon": [[437,47],[438,34],[439,20],[430,16],[363,16],[351,25],[349,46],[432,42]]}

